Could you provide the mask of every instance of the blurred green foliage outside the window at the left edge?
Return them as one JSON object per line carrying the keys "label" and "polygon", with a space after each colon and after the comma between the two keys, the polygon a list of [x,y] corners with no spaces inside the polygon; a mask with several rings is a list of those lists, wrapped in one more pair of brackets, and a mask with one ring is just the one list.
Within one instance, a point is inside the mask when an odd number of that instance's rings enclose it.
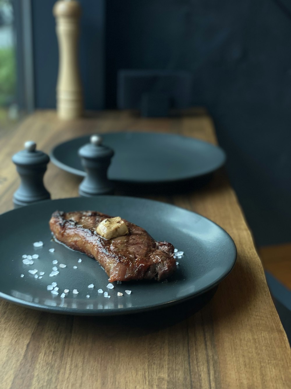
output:
{"label": "blurred green foliage outside the window at the left edge", "polygon": [[11,102],[15,95],[16,67],[13,47],[0,49],[0,106]]}

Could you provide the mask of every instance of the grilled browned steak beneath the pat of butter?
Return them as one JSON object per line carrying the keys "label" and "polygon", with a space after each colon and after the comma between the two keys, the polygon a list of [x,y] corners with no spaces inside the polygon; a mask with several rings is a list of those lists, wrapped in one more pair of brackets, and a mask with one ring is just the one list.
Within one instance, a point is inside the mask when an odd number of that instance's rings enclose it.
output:
{"label": "grilled browned steak beneath the pat of butter", "polygon": [[143,228],[124,219],[128,235],[109,240],[99,236],[96,227],[110,217],[95,211],[55,211],[50,219],[50,230],[71,249],[95,258],[111,282],[162,280],[176,270],[173,245],[156,242]]}

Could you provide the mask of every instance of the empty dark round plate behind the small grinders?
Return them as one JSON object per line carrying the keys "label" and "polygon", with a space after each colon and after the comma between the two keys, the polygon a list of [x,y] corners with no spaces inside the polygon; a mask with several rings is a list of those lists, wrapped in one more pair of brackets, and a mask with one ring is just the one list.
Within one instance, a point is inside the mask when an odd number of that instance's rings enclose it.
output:
{"label": "empty dark round plate behind the small grinders", "polygon": [[[192,179],[217,170],[225,162],[220,147],[194,138],[161,133],[119,132],[102,134],[103,143],[114,149],[108,171],[111,180],[154,183]],[[57,145],[51,152],[59,168],[85,176],[78,149],[89,136]]]}

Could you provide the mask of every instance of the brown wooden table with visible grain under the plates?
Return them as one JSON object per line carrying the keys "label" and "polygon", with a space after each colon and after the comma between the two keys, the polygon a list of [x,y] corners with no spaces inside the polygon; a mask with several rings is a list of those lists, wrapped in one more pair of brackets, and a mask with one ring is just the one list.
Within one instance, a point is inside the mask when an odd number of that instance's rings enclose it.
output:
{"label": "brown wooden table with visible grain under the plates", "polygon": [[[120,130],[178,133],[217,143],[210,117],[141,119],[102,112],[62,122],[36,112],[0,132],[0,212],[12,209],[19,178],[10,158],[35,140],[49,152],[64,140]],[[50,164],[52,198],[77,196],[80,179]],[[237,246],[237,264],[203,309],[173,324],[49,314],[0,302],[1,388],[288,388],[291,354],[236,194],[223,170],[192,193],[155,197],[220,224]],[[153,323],[154,324],[154,323]]]}

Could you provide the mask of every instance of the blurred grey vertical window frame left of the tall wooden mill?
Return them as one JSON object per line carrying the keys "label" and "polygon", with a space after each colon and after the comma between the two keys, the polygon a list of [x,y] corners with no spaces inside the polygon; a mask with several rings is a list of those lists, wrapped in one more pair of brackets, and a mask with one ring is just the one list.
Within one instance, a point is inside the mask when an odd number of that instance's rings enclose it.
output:
{"label": "blurred grey vertical window frame left of the tall wooden mill", "polygon": [[35,109],[31,0],[12,0],[16,33],[17,102],[21,111]]}

